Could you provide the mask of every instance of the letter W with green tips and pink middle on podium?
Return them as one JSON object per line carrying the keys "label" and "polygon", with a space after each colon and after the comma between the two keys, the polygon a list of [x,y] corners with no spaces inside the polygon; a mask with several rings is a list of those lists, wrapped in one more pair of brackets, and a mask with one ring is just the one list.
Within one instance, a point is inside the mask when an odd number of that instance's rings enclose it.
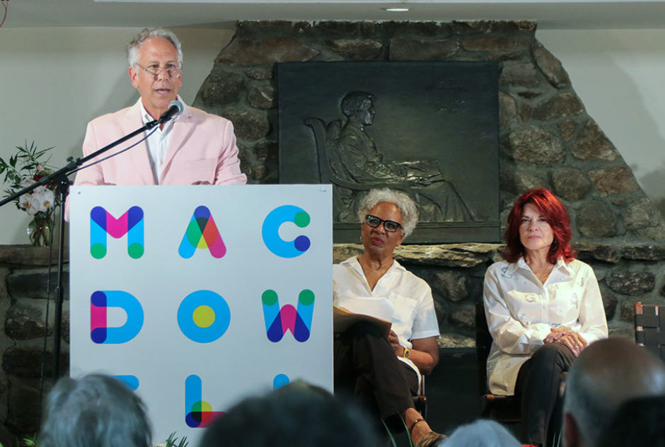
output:
{"label": "letter W with green tips and pink middle on podium", "polygon": [[305,289],[298,296],[298,308],[285,304],[279,308],[279,298],[274,290],[267,290],[261,296],[263,318],[268,339],[277,343],[288,330],[299,342],[306,342],[312,326],[314,312],[314,292]]}

